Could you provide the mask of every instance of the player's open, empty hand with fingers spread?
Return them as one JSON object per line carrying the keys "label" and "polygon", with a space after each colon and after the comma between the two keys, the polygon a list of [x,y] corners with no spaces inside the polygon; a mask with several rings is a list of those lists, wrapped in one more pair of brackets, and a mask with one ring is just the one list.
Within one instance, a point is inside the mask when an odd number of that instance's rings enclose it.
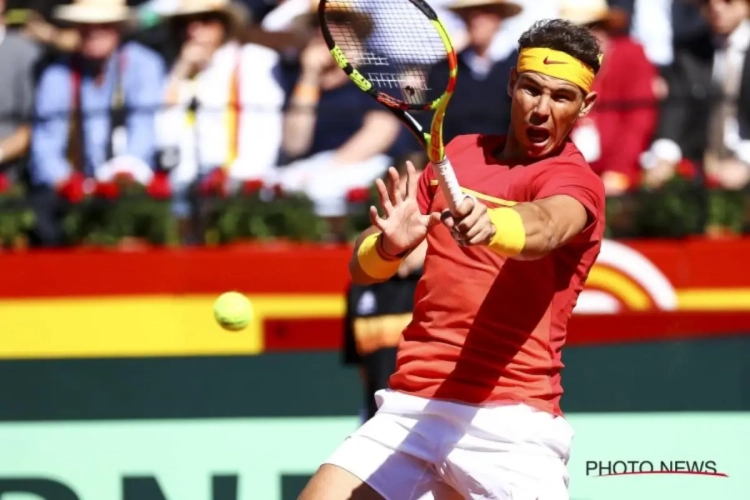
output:
{"label": "player's open, empty hand with fingers spread", "polygon": [[388,186],[375,181],[380,199],[378,209],[370,207],[370,221],[383,234],[383,250],[393,256],[419,245],[427,232],[440,223],[440,213],[422,214],[417,204],[417,172],[411,162],[406,163],[406,190],[399,189],[399,175],[395,168],[388,169]]}

